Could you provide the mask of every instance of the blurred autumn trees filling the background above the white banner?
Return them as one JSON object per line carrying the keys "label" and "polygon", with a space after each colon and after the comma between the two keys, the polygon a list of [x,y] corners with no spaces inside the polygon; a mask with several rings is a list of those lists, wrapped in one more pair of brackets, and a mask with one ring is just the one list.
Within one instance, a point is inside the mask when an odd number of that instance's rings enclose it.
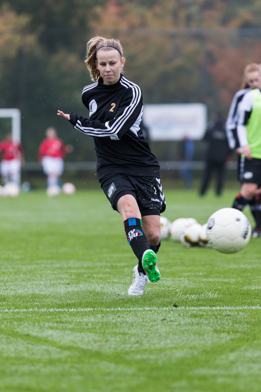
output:
{"label": "blurred autumn trees filling the background above the white banner", "polygon": [[121,40],[125,76],[145,103],[203,102],[226,114],[245,65],[261,61],[260,20],[259,0],[6,1],[0,106],[20,107],[36,138],[32,112],[45,127],[57,107],[78,111],[91,82],[85,45],[99,34]]}

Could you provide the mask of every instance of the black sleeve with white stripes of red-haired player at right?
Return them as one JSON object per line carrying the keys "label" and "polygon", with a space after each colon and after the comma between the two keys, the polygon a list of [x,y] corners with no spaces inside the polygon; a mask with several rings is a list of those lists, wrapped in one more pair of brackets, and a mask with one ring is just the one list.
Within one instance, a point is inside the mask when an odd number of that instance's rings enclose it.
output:
{"label": "black sleeve with white stripes of red-haired player at right", "polygon": [[229,142],[230,149],[236,149],[239,147],[239,140],[237,135],[237,124],[238,124],[238,109],[239,104],[242,101],[244,95],[250,91],[251,88],[239,90],[232,100],[232,103],[229,108],[229,114],[227,116],[226,121],[226,132],[227,132],[227,140]]}

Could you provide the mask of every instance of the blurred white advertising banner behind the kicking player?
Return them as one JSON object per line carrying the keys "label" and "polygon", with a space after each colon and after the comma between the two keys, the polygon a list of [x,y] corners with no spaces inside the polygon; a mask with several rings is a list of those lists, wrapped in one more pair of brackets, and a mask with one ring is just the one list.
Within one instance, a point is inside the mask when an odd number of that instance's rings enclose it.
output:
{"label": "blurred white advertising banner behind the kicking player", "polygon": [[142,120],[151,140],[202,139],[207,127],[203,103],[144,105]]}

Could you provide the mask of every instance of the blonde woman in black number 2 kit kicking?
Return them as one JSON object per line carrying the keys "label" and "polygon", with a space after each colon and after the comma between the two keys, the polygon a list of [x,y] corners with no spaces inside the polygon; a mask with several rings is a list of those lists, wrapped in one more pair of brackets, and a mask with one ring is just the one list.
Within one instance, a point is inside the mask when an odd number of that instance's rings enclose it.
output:
{"label": "blonde woman in black number 2 kit kicking", "polygon": [[146,281],[157,282],[160,213],[166,202],[160,167],[140,129],[142,92],[122,76],[125,58],[119,40],[95,36],[86,45],[86,66],[95,82],[82,101],[90,119],[65,114],[75,129],[94,138],[97,175],[112,208],[118,211],[138,264],[128,294],[140,295]]}

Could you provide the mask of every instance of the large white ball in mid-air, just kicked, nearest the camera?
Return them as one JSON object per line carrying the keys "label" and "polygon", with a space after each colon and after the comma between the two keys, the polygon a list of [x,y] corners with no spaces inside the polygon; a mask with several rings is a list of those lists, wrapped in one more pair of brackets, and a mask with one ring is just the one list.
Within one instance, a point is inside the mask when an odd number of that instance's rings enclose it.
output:
{"label": "large white ball in mid-air, just kicked, nearest the camera", "polygon": [[250,240],[250,223],[243,212],[222,208],[207,221],[207,240],[213,249],[222,253],[236,253]]}

